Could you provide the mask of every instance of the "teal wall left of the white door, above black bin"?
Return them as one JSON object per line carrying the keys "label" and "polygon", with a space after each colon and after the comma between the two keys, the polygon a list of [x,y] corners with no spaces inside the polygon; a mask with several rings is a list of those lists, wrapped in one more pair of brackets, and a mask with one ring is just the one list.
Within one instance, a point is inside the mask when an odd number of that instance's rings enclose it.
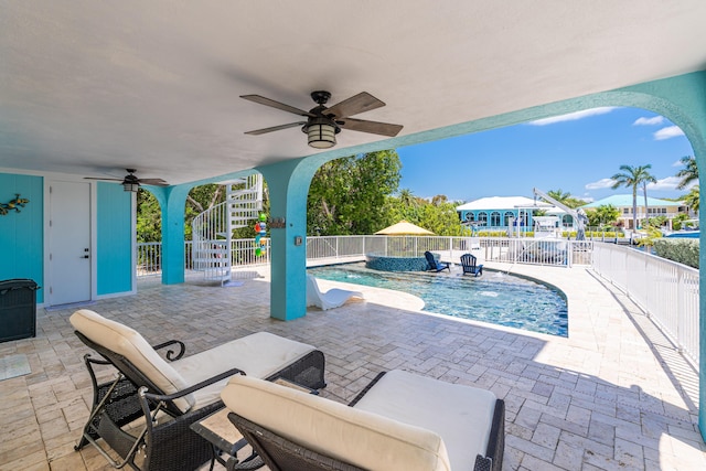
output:
{"label": "teal wall left of the white door, above black bin", "polygon": [[[30,200],[20,212],[0,216],[0,280],[29,278],[44,283],[44,179],[0,173],[0,202],[8,203],[20,193]],[[44,302],[44,291],[36,292]]]}

